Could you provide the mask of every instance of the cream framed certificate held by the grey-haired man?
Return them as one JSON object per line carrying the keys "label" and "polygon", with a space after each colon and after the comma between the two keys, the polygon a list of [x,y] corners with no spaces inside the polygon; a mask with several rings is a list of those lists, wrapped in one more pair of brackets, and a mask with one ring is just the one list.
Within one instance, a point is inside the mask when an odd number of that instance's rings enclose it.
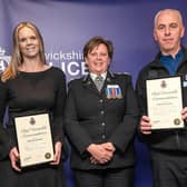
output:
{"label": "cream framed certificate held by the grey-haired man", "polygon": [[146,91],[151,129],[184,128],[180,76],[146,80]]}

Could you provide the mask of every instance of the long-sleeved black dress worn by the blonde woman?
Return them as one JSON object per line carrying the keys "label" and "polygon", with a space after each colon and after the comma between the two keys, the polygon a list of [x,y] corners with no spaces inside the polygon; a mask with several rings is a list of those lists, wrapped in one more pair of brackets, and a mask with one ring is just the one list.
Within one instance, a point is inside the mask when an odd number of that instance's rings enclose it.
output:
{"label": "long-sleeved black dress worn by the blonde woman", "polygon": [[[6,107],[9,120],[7,130],[10,141],[7,147],[17,146],[13,116],[49,112],[53,144],[63,140],[62,115],[66,100],[63,72],[55,67],[39,72],[20,71],[14,79],[0,82],[0,124],[2,126]],[[0,161],[1,187],[62,187],[62,165],[49,164],[23,168],[17,173],[7,156]]]}

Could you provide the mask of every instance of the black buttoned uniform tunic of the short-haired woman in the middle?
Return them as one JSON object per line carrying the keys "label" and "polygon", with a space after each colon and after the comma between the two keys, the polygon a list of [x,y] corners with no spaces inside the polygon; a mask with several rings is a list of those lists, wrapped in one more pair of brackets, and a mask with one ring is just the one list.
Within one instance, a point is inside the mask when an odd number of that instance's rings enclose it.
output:
{"label": "black buttoned uniform tunic of the short-haired woman in the middle", "polygon": [[[108,86],[118,86],[121,97],[109,96]],[[72,145],[73,169],[116,169],[135,165],[134,138],[138,124],[138,107],[131,77],[127,73],[107,73],[99,92],[90,76],[69,83],[65,109],[66,132]],[[92,165],[86,151],[90,144],[112,142],[112,159],[105,165]]]}

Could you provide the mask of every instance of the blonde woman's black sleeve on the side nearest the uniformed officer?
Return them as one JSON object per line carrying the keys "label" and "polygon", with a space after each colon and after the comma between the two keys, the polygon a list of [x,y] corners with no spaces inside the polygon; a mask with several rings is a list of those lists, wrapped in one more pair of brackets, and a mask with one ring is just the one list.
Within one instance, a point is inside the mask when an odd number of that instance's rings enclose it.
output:
{"label": "blonde woman's black sleeve on the side nearest the uniformed officer", "polygon": [[56,89],[56,104],[53,107],[53,139],[56,141],[63,141],[63,111],[66,104],[66,77],[65,73],[59,70],[57,76],[57,89]]}

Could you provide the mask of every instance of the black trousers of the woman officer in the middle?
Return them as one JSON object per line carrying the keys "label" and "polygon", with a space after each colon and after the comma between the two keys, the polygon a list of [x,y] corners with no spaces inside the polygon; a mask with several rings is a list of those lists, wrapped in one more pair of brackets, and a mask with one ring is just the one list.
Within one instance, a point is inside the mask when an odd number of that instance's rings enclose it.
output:
{"label": "black trousers of the woman officer in the middle", "polygon": [[132,187],[134,167],[126,169],[75,169],[76,187]]}

